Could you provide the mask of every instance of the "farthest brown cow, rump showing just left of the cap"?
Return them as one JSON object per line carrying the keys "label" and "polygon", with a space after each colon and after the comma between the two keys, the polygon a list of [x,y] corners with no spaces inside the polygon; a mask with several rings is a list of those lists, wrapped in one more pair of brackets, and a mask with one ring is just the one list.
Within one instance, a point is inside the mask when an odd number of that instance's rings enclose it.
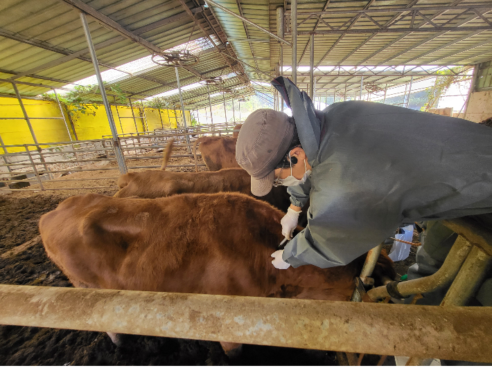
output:
{"label": "farthest brown cow, rump showing just left of the cap", "polygon": [[195,172],[198,172],[197,145],[200,143],[200,152],[205,165],[211,172],[229,167],[239,167],[236,161],[236,141],[231,137],[202,137],[193,144],[195,156]]}

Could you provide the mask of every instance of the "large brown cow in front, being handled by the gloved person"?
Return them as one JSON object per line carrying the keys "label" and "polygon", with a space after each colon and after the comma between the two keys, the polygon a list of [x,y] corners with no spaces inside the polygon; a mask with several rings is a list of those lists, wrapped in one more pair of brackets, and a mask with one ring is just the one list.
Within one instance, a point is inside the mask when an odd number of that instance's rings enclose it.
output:
{"label": "large brown cow in front, being handled by the gloved person", "polygon": [[[364,257],[335,268],[278,270],[270,255],[283,239],[281,217],[244,194],[85,194],[44,214],[39,231],[46,253],[76,287],[349,300]],[[376,269],[395,275],[385,256]]]}

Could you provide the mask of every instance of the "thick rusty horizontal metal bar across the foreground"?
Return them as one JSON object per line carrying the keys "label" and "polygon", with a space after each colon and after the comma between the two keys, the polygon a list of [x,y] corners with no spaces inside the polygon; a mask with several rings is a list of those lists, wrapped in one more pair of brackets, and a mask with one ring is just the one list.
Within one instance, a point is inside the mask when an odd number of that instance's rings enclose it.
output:
{"label": "thick rusty horizontal metal bar across the foreground", "polygon": [[0,324],[492,361],[492,307],[18,285],[0,302]]}

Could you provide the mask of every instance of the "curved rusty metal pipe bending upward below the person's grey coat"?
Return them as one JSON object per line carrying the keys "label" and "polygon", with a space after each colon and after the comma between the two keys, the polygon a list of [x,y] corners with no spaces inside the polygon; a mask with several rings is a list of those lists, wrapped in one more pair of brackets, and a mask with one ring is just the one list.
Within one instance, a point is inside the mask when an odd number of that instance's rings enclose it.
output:
{"label": "curved rusty metal pipe bending upward below the person's grey coat", "polygon": [[[457,237],[453,248],[449,251],[448,257],[446,257],[446,260],[437,273],[422,277],[421,279],[400,282],[394,286],[396,291],[401,295],[407,296],[418,293],[429,293],[441,286],[448,285],[455,279],[459,268],[468,256],[471,247],[471,243],[468,243],[464,237]],[[391,296],[387,291],[387,286],[379,286],[378,288],[369,290],[367,295],[369,295],[372,300]]]}

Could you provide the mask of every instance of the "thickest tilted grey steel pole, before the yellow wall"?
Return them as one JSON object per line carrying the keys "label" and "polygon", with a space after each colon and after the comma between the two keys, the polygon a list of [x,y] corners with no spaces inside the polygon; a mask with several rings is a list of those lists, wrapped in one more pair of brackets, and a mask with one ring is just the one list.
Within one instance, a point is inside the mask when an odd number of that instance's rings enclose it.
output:
{"label": "thickest tilted grey steel pole, before the yellow wall", "polygon": [[109,122],[109,128],[111,129],[114,156],[116,157],[116,162],[120,169],[121,174],[126,174],[128,169],[126,168],[125,156],[123,156],[123,151],[120,147],[120,142],[118,140],[118,132],[116,131],[116,125],[114,125],[113,115],[111,113],[111,107],[109,102],[107,102],[106,91],[104,89],[103,78],[100,76],[98,59],[96,57],[96,50],[94,49],[94,44],[92,44],[91,32],[89,30],[89,24],[87,24],[87,18],[85,13],[80,12],[80,20],[82,21],[82,27],[84,28],[85,38],[87,39],[87,46],[89,47],[89,52],[91,54],[92,64],[94,64],[94,71],[96,71],[96,78],[98,80],[99,90],[101,98],[103,98],[104,107],[106,109],[107,121]]}

